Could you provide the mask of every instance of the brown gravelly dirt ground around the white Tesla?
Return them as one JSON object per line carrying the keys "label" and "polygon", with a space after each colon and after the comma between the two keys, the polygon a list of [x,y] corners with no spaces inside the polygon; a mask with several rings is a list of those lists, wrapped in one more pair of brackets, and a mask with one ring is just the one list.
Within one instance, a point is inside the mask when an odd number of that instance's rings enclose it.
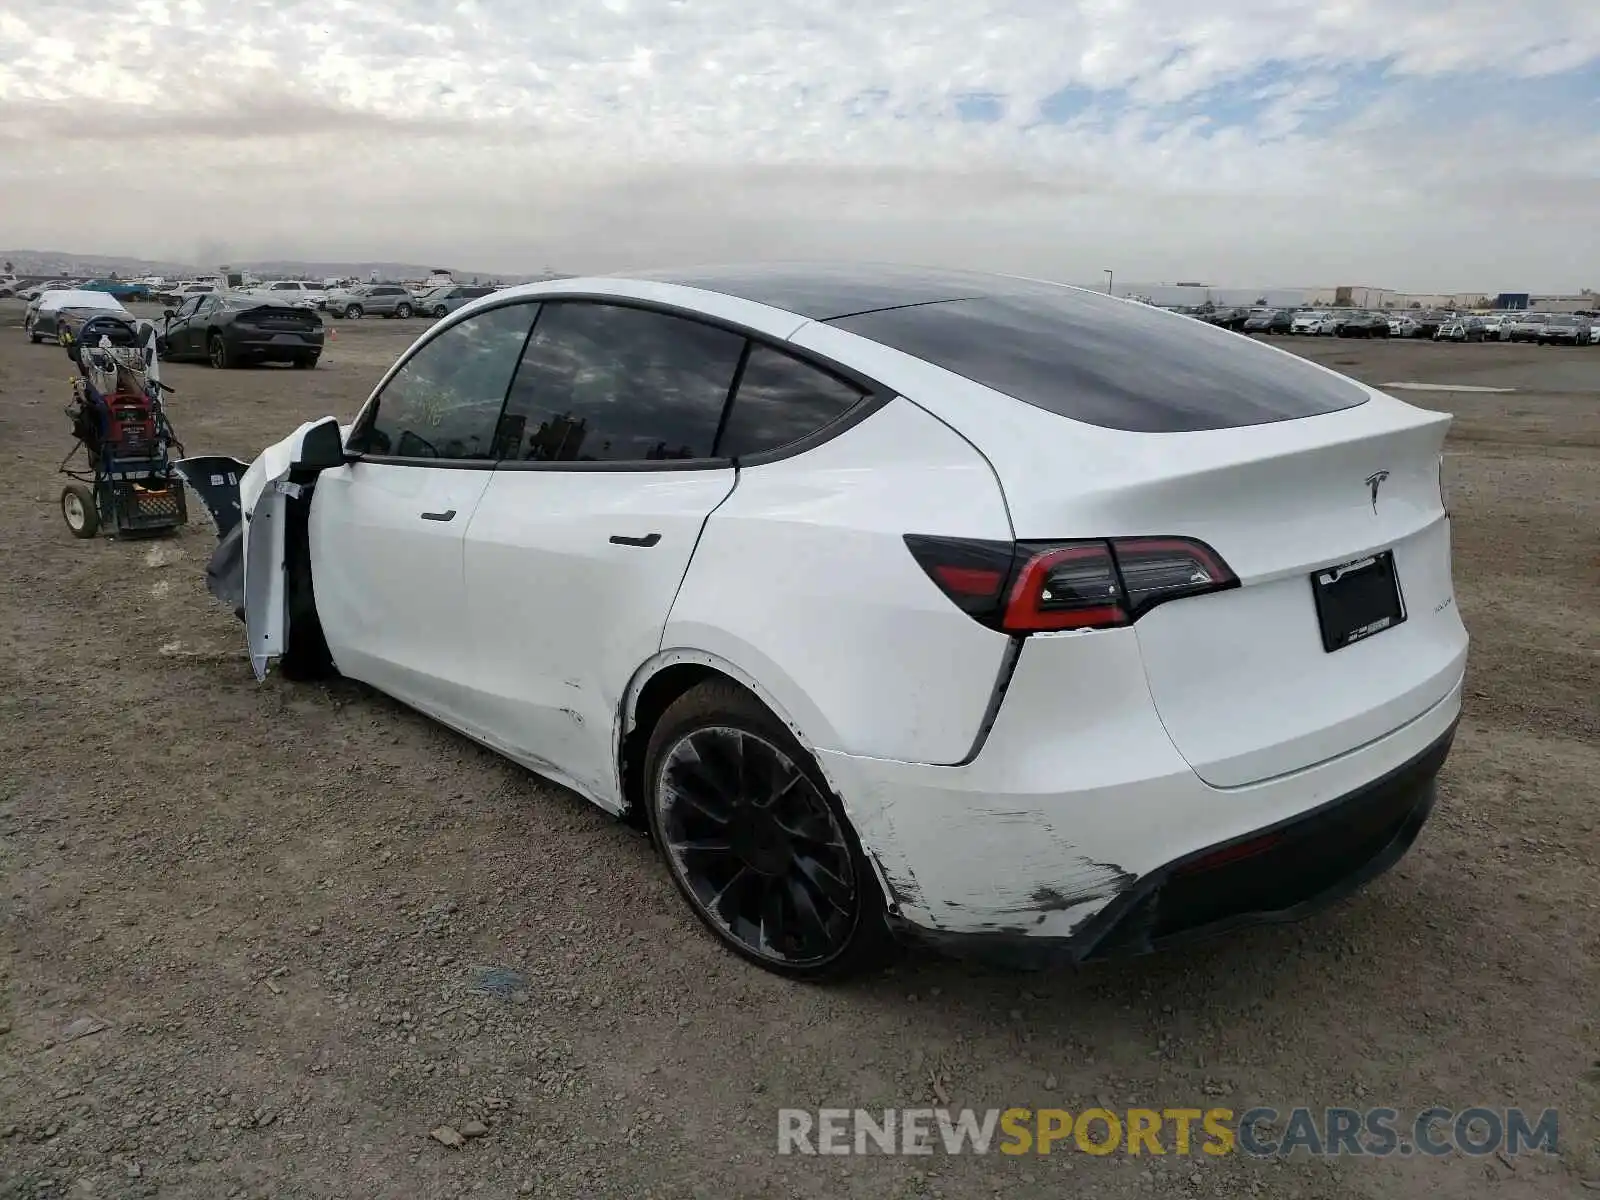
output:
{"label": "brown gravelly dirt ground around the white Tesla", "polygon": [[[258,685],[203,514],[74,541],[70,365],[0,309],[0,1197],[1562,1197],[1600,1181],[1600,349],[1294,341],[1458,414],[1469,698],[1437,814],[1301,925],[1080,971],[813,989],[701,933],[648,842],[350,685]],[[352,414],[170,366],[190,453]],[[509,997],[474,990],[507,968]],[[496,982],[496,979],[490,979]],[[93,1030],[93,1032],[90,1032]],[[776,1154],[779,1107],[1560,1110],[1558,1157]],[[450,1149],[442,1123],[482,1122]],[[474,1130],[475,1131],[475,1130]]]}

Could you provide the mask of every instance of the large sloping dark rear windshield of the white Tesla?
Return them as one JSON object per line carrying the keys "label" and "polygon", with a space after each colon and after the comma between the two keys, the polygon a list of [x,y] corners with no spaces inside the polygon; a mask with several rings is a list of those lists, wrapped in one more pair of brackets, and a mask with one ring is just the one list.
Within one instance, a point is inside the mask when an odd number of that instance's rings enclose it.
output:
{"label": "large sloping dark rear windshield of the white Tesla", "polygon": [[1366,400],[1349,379],[1237,333],[1045,283],[829,325],[1102,429],[1237,429]]}

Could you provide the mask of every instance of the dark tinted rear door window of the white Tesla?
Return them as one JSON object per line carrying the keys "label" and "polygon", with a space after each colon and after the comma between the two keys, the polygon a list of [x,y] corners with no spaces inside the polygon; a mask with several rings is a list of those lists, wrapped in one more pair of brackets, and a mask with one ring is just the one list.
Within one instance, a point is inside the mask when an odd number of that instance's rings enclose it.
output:
{"label": "dark tinted rear door window of the white Tesla", "polygon": [[744,338],[614,304],[546,304],[506,405],[528,462],[710,458]]}

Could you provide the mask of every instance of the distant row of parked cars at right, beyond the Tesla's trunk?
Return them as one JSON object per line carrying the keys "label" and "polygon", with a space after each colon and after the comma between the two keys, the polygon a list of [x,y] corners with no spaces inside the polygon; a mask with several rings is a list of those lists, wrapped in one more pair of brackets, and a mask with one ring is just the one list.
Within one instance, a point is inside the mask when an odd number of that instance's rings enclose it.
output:
{"label": "distant row of parked cars at right, beyond the Tesla's trunk", "polygon": [[1587,312],[1474,314],[1366,309],[1174,309],[1174,312],[1237,333],[1600,346],[1600,314]]}

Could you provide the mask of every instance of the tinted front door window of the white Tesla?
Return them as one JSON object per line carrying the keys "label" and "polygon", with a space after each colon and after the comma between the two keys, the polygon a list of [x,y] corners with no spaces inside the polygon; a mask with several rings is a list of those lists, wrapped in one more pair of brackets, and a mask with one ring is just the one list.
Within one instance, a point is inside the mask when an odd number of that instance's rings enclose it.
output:
{"label": "tinted front door window of the white Tesla", "polygon": [[493,458],[494,421],[536,310],[509,304],[434,338],[384,384],[352,446],[402,458]]}

